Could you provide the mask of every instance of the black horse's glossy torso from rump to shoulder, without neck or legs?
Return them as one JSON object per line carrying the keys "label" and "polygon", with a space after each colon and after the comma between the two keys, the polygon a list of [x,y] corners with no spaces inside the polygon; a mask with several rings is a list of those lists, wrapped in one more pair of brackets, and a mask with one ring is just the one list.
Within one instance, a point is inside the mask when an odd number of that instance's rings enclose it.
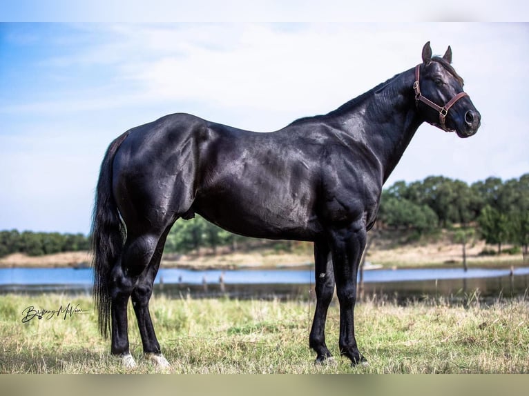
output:
{"label": "black horse's glossy torso from rump to shoulder, without neck or legs", "polygon": [[175,114],[131,130],[114,192],[133,222],[196,212],[242,235],[312,240],[332,217],[363,216],[351,200],[365,191],[354,157],[324,123],[260,133]]}

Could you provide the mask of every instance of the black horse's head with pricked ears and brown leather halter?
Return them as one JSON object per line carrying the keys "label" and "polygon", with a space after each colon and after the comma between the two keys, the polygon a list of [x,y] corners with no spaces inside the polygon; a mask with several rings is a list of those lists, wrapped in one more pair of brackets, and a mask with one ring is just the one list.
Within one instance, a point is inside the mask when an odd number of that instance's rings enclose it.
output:
{"label": "black horse's head with pricked ears and brown leather halter", "polygon": [[451,63],[450,46],[443,57],[432,57],[430,41],[425,44],[423,63],[415,69],[416,106],[427,123],[470,137],[481,125],[481,115],[463,91],[463,79]]}

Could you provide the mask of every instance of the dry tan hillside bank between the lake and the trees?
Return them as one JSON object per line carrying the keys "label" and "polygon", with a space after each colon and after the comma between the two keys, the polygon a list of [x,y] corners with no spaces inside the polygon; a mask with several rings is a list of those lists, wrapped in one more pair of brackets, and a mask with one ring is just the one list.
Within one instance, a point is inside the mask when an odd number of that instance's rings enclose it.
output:
{"label": "dry tan hillside bank between the lake and the trees", "polygon": [[[374,239],[367,253],[367,261],[386,268],[395,266],[441,266],[461,264],[461,245],[452,243],[450,233],[407,242],[409,235],[402,232],[385,233]],[[508,246],[506,246],[508,247]],[[496,246],[486,246],[483,241],[468,245],[467,260],[472,265],[512,264],[521,265],[521,254],[481,255],[484,249],[496,250]],[[57,253],[28,257],[15,253],[2,257],[0,267],[75,267],[88,266],[88,252]],[[311,244],[295,242],[289,251],[268,244],[258,249],[240,250],[229,253],[220,250],[217,255],[202,251],[200,255],[164,255],[162,266],[180,268],[288,268],[312,265],[314,263]]]}

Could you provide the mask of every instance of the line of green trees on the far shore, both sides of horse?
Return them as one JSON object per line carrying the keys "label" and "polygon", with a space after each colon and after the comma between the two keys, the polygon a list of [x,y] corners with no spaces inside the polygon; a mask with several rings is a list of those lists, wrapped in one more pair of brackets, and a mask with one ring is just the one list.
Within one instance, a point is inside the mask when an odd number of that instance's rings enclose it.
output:
{"label": "line of green trees on the far shore, both sides of horse", "polygon": [[[397,181],[383,190],[378,212],[379,229],[415,230],[427,234],[454,224],[472,235],[494,244],[520,246],[527,255],[529,244],[529,173],[518,179],[502,181],[489,177],[467,184],[442,176],[423,181]],[[474,233],[475,232],[475,233]],[[458,239],[467,234],[459,232]],[[166,240],[165,253],[187,253],[209,248],[213,253],[220,246],[237,250],[255,244],[255,239],[234,235],[197,216],[177,221]],[[90,238],[81,234],[57,232],[0,232],[0,257],[10,253],[45,255],[65,251],[87,250]]]}

